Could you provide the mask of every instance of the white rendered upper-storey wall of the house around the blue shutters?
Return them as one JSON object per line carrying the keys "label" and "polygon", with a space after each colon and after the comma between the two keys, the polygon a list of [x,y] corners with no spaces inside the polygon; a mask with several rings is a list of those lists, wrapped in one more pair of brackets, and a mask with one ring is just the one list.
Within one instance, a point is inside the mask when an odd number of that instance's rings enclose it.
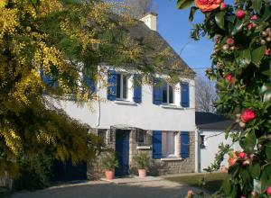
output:
{"label": "white rendered upper-storey wall of the house around the blue shutters", "polygon": [[[117,103],[107,101],[107,88],[100,89],[98,102],[79,107],[76,103],[61,102],[61,107],[71,117],[88,123],[92,128],[110,129],[111,126],[126,125],[143,130],[195,131],[194,80],[183,79],[190,85],[189,108],[164,108],[153,103],[153,87],[142,85],[142,103]],[[130,89],[132,89],[130,87]],[[130,91],[133,93],[133,91]],[[176,95],[179,95],[178,97]],[[180,107],[180,85],[175,90],[175,103]],[[131,96],[129,96],[131,97]],[[99,110],[98,110],[99,109]],[[98,116],[99,115],[99,116]]]}

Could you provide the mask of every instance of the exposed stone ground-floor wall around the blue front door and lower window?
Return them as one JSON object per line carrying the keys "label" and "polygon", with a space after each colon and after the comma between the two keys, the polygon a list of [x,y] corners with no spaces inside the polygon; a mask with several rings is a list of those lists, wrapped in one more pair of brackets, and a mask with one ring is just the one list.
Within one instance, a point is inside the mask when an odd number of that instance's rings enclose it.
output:
{"label": "exposed stone ground-floor wall around the blue front door and lower window", "polygon": [[[98,130],[94,130],[94,133],[98,133]],[[152,146],[152,130],[147,130],[145,145]],[[116,144],[116,131],[107,130],[107,135],[105,142],[107,148],[115,149]],[[136,142],[136,130],[130,131],[129,139],[129,166],[130,174],[137,175],[137,168],[135,167],[135,162],[133,158],[139,153],[147,153],[151,158],[150,168],[148,170],[148,175],[169,175],[169,174],[182,174],[182,173],[192,173],[195,169],[195,132],[190,132],[190,155],[185,159],[178,159],[175,161],[163,161],[161,159],[153,159],[152,147],[147,149],[138,149]],[[98,179],[104,176],[104,170],[101,167],[101,157],[103,154],[99,154],[98,157],[89,161],[88,163],[88,179]]]}

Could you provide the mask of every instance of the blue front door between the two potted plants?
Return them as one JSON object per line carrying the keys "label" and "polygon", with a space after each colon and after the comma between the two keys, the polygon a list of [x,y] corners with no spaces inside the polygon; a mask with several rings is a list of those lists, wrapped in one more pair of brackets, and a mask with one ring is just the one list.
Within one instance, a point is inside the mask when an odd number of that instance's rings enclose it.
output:
{"label": "blue front door between the two potted plants", "polygon": [[129,173],[129,133],[130,130],[116,130],[116,155],[118,167],[115,175],[128,175]]}

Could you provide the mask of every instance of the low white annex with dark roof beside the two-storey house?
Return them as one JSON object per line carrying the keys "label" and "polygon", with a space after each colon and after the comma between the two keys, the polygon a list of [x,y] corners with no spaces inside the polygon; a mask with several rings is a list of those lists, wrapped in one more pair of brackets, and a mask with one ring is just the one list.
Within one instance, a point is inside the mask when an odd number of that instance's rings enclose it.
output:
{"label": "low white annex with dark roof beside the two-storey house", "polygon": [[[220,143],[232,144],[232,141],[225,139],[225,131],[234,124],[234,121],[210,112],[196,112],[196,142],[195,144],[195,172],[204,172],[204,168],[214,162],[215,155],[219,151]],[[230,132],[237,132],[237,125],[233,125]],[[236,151],[240,151],[238,143],[232,145]],[[224,156],[221,166],[228,167],[229,156]]]}

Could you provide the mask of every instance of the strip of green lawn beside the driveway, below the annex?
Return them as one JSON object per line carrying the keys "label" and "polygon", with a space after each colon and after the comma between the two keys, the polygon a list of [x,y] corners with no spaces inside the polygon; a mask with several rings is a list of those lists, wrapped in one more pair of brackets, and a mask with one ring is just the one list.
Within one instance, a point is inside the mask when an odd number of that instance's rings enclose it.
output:
{"label": "strip of green lawn beside the driveway, below the annex", "polygon": [[177,176],[166,178],[170,181],[180,184],[188,184],[194,187],[201,187],[201,179],[205,176],[204,190],[210,193],[215,193],[220,190],[220,186],[227,174],[213,173],[213,174],[201,174],[201,175],[189,175],[189,176]]}

